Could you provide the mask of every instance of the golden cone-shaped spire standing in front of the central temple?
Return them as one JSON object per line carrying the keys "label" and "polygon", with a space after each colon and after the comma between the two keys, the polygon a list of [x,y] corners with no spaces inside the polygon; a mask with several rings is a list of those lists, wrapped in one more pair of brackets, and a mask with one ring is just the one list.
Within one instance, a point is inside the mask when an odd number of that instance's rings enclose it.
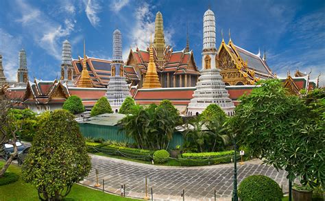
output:
{"label": "golden cone-shaped spire standing in front of the central temple", "polygon": [[158,73],[156,70],[156,64],[154,63],[154,47],[150,44],[149,49],[149,64],[147,73],[145,74],[145,82],[143,82],[142,88],[160,88],[160,82]]}

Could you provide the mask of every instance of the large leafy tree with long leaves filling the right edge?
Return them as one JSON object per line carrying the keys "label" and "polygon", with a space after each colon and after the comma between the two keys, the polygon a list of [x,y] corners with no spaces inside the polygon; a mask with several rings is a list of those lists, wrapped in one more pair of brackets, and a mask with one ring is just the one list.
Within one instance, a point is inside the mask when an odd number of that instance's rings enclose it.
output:
{"label": "large leafy tree with long leaves filling the right edge", "polygon": [[265,163],[285,169],[289,180],[298,177],[303,185],[324,187],[325,119],[320,107],[313,110],[289,95],[279,80],[266,80],[243,96],[235,110],[228,128],[240,144]]}

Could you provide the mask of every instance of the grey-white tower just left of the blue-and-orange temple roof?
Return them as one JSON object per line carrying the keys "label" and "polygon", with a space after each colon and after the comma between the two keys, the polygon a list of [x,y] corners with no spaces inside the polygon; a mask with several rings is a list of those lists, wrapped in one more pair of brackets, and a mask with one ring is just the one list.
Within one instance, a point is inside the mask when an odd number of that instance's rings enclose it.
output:
{"label": "grey-white tower just left of the blue-and-orange temple roof", "polygon": [[71,45],[68,40],[64,40],[62,44],[61,80],[68,86],[73,86]]}

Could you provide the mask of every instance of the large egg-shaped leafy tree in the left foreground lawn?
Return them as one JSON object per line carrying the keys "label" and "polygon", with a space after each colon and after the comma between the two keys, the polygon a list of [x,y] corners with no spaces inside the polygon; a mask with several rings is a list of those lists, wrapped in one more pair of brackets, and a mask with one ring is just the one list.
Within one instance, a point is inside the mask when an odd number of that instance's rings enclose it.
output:
{"label": "large egg-shaped leafy tree in the left foreground lawn", "polygon": [[40,200],[62,200],[91,170],[84,137],[67,110],[45,113],[23,163],[25,182],[38,189]]}

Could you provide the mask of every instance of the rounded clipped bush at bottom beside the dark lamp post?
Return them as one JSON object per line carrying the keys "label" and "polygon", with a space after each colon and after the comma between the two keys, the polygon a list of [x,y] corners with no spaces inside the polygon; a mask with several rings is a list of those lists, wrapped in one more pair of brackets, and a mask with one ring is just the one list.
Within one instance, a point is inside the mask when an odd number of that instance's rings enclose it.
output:
{"label": "rounded clipped bush at bottom beside the dark lamp post", "polygon": [[244,201],[282,200],[283,193],[272,178],[264,175],[252,175],[240,183],[238,196]]}

